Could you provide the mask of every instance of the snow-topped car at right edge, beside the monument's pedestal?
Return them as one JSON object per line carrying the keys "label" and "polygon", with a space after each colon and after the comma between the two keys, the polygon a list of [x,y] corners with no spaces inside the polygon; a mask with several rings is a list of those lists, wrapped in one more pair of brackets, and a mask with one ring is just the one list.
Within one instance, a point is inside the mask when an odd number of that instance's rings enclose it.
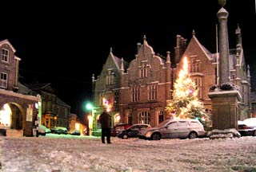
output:
{"label": "snow-topped car at right edge, beside the monument's pedestal", "polygon": [[256,118],[249,118],[243,121],[238,121],[238,132],[242,136],[256,136]]}

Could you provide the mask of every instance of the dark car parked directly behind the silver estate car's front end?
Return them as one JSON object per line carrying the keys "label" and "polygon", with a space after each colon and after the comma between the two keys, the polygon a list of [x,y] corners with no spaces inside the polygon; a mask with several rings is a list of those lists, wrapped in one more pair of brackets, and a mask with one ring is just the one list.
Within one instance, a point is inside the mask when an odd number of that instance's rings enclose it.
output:
{"label": "dark car parked directly behind the silver estate car's front end", "polygon": [[136,138],[138,137],[138,132],[151,127],[150,124],[134,124],[131,127],[126,128],[124,131],[118,133],[118,138],[128,139],[128,138]]}

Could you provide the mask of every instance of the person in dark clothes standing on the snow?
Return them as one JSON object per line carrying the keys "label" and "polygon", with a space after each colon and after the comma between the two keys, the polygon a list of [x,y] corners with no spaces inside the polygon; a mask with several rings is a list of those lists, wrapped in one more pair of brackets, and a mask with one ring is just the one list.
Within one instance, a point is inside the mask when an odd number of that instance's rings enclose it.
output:
{"label": "person in dark clothes standing on the snow", "polygon": [[107,113],[106,107],[103,108],[102,114],[99,116],[99,122],[102,125],[102,143],[105,143],[105,137],[106,142],[110,144],[110,136],[111,136],[111,118],[110,114]]}

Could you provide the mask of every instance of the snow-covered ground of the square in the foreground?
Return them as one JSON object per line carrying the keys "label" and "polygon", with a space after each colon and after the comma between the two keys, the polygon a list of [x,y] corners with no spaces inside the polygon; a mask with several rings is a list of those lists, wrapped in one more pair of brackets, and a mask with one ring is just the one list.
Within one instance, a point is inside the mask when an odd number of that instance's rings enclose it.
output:
{"label": "snow-covered ground of the square in the foreground", "polygon": [[0,137],[0,171],[256,171],[256,137],[111,142],[66,135]]}

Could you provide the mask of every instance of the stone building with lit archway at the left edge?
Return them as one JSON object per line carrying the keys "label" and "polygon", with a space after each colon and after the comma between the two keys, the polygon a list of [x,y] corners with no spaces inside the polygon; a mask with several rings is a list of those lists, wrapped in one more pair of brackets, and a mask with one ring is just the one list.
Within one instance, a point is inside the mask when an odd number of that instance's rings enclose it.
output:
{"label": "stone building with lit archway at the left edge", "polygon": [[0,41],[0,135],[32,136],[41,99],[18,82],[15,52],[8,40]]}

